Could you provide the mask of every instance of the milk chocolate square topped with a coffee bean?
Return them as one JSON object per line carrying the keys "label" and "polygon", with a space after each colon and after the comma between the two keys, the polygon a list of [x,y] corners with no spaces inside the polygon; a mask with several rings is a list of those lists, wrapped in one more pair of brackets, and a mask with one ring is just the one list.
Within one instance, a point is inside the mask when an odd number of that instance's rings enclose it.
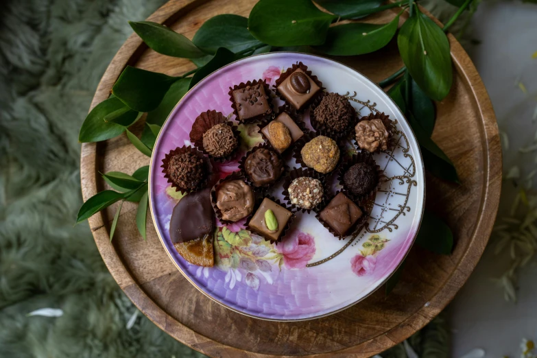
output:
{"label": "milk chocolate square topped with a coffee bean", "polygon": [[278,86],[281,95],[297,110],[300,110],[320,89],[302,69],[296,69]]}

